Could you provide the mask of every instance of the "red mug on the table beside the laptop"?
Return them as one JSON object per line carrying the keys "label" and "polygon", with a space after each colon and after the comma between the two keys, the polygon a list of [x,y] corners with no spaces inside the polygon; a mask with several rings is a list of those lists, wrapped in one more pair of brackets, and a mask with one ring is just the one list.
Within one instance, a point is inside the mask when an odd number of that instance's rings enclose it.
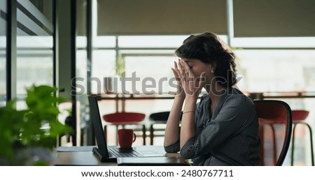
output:
{"label": "red mug on the table beside the laptop", "polygon": [[132,129],[118,130],[118,143],[120,148],[131,148],[136,138],[137,136]]}

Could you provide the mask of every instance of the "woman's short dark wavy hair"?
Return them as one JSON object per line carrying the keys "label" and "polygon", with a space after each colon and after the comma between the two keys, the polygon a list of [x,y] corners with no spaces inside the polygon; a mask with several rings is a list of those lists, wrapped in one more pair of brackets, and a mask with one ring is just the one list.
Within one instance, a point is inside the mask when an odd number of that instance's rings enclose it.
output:
{"label": "woman's short dark wavy hair", "polygon": [[223,87],[232,87],[236,84],[235,54],[214,33],[205,32],[189,36],[175,54],[180,58],[199,59],[203,63],[214,65],[216,80]]}

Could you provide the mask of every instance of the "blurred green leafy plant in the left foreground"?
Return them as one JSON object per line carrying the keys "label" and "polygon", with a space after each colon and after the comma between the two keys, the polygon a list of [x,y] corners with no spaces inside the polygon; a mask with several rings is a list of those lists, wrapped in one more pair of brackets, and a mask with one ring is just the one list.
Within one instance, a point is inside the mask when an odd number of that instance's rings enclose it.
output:
{"label": "blurred green leafy plant in the left foreground", "polygon": [[15,100],[0,107],[0,165],[49,165],[50,152],[59,135],[71,128],[59,122],[57,88],[33,85],[27,89],[26,110],[16,110]]}

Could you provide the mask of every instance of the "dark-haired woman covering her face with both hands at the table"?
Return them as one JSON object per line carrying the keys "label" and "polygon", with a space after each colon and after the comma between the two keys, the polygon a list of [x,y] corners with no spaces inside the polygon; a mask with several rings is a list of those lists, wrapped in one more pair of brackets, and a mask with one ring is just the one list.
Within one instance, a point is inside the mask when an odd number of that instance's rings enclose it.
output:
{"label": "dark-haired woman covering her face with both hands at the table", "polygon": [[[193,165],[259,165],[258,117],[253,101],[233,87],[235,54],[209,32],[188,37],[175,54],[178,85],[165,151],[180,151]],[[202,88],[207,94],[197,103]]]}

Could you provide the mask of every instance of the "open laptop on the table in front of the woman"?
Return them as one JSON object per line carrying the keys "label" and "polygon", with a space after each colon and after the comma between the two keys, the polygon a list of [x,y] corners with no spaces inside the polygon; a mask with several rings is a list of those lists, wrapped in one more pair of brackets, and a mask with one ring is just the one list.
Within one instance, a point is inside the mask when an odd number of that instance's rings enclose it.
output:
{"label": "open laptop on the table in front of the woman", "polygon": [[165,153],[154,152],[147,153],[148,151],[137,151],[137,148],[121,149],[117,146],[108,147],[106,143],[106,135],[102,127],[102,119],[99,113],[99,105],[96,96],[88,96],[90,103],[90,119],[94,127],[95,137],[97,140],[97,147],[92,149],[92,152],[103,163],[117,162],[119,157],[156,157],[166,156]]}

